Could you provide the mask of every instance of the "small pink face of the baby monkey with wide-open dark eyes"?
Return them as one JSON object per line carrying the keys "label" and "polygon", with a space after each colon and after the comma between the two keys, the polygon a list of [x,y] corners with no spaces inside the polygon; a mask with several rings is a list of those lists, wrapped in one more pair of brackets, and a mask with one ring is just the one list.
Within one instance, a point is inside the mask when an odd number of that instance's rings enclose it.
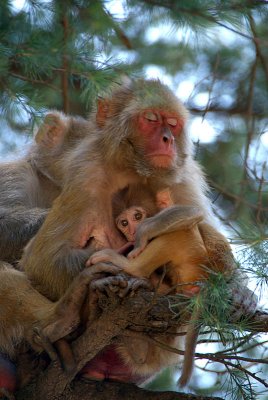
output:
{"label": "small pink face of the baby monkey with wide-open dark eyes", "polygon": [[117,228],[128,242],[135,242],[138,225],[146,218],[147,213],[142,207],[129,207],[116,219]]}

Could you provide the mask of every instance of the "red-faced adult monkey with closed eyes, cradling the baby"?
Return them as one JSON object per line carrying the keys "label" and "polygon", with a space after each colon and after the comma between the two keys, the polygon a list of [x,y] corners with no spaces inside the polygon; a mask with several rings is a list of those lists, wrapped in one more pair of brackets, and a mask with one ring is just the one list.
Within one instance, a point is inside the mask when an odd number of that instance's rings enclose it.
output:
{"label": "red-faced adult monkey with closed eyes, cradling the baby", "polygon": [[[94,251],[126,242],[114,223],[112,196],[127,185],[146,184],[153,193],[168,188],[174,204],[197,207],[205,221],[213,221],[186,120],[182,103],[159,81],[133,81],[99,101],[89,120],[91,134],[65,156],[63,191],[21,260],[40,293],[58,300]],[[176,346],[174,336],[165,341]],[[133,382],[177,359],[152,344],[142,360],[123,342],[114,351]]]}

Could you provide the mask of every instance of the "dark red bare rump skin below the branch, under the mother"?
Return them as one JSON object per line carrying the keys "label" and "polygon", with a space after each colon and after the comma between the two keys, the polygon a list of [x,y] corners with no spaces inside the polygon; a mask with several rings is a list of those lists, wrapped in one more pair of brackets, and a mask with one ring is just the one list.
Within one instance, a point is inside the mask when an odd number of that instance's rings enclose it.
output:
{"label": "dark red bare rump skin below the branch, under the mother", "polygon": [[83,378],[92,380],[110,379],[118,382],[142,383],[150,376],[133,373],[124,363],[115,346],[105,347],[82,369]]}

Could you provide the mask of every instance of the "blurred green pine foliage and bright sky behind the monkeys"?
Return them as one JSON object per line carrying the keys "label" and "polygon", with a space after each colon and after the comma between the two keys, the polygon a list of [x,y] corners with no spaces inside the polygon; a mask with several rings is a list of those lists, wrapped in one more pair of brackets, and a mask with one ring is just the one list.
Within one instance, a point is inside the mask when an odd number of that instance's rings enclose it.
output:
{"label": "blurred green pine foliage and bright sky behind the monkeys", "polygon": [[267,282],[268,2],[1,0],[2,155],[48,109],[86,117],[122,75],[160,78],[185,102],[216,213]]}

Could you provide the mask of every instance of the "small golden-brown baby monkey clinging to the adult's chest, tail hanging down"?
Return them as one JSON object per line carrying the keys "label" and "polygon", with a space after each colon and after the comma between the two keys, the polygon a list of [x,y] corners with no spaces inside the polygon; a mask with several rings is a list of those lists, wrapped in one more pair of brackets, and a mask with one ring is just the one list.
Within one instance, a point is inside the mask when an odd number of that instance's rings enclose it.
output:
{"label": "small golden-brown baby monkey clinging to the adult's chest, tail hanging down", "polygon": [[[157,205],[169,208],[156,214]],[[113,209],[118,229],[128,245],[134,245],[134,250],[126,258],[115,250],[105,249],[91,256],[87,265],[112,262],[130,275],[149,278],[160,293],[175,288],[186,295],[199,291],[196,282],[206,279],[209,271],[232,272],[234,261],[225,237],[202,222],[202,213],[197,208],[172,206],[168,190],[157,194],[154,200],[144,185],[128,187],[116,194]],[[166,274],[158,285],[160,276],[155,271],[163,266]],[[180,386],[188,383],[193,370],[199,333],[196,323],[194,314],[187,328]]]}

